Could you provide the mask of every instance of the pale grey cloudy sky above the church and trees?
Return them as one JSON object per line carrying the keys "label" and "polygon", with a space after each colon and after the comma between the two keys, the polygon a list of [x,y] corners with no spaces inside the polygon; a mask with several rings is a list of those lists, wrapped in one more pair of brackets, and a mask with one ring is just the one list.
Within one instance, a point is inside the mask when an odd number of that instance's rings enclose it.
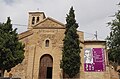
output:
{"label": "pale grey cloudy sky above the church and trees", "polygon": [[[85,40],[94,40],[97,31],[98,40],[104,40],[110,32],[107,23],[113,19],[119,0],[0,0],[0,22],[12,20],[13,28],[18,33],[27,30],[28,12],[44,12],[51,17],[66,23],[66,14],[74,7],[79,31],[84,32]],[[16,25],[17,24],[17,25]]]}

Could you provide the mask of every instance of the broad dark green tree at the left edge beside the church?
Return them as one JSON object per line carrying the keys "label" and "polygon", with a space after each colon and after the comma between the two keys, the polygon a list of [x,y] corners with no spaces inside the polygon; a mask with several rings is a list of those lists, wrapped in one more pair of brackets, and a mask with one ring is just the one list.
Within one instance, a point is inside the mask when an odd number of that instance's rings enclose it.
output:
{"label": "broad dark green tree at the left edge beside the church", "polygon": [[8,72],[12,67],[21,63],[24,59],[24,45],[18,40],[17,29],[12,29],[11,20],[8,17],[6,23],[0,24],[0,70]]}

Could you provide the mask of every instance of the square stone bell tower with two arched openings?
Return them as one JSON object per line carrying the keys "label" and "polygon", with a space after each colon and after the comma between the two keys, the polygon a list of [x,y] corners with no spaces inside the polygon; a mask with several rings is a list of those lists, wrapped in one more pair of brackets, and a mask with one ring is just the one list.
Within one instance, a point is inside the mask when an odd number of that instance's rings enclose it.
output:
{"label": "square stone bell tower with two arched openings", "polygon": [[44,12],[29,12],[28,30],[32,29],[34,25],[38,24],[43,19],[45,19]]}

